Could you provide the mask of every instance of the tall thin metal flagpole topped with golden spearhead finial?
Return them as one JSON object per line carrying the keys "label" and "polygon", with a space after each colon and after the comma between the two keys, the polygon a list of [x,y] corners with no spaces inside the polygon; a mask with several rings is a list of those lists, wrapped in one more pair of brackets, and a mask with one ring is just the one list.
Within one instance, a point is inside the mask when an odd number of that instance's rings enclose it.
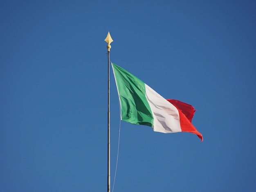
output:
{"label": "tall thin metal flagpole topped with golden spearhead finial", "polygon": [[108,192],[110,192],[110,94],[109,94],[109,87],[110,87],[110,49],[111,45],[110,43],[113,42],[110,33],[108,31],[108,35],[105,39],[105,41],[108,43],[107,49],[108,49]]}

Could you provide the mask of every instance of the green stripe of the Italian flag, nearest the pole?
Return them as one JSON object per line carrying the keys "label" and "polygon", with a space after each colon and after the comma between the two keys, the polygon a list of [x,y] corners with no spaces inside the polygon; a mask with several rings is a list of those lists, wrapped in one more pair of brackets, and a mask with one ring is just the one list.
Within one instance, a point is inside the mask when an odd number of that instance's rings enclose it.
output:
{"label": "green stripe of the Italian flag, nearest the pole", "polygon": [[146,98],[145,83],[114,63],[112,67],[121,103],[122,120],[153,127],[153,114]]}

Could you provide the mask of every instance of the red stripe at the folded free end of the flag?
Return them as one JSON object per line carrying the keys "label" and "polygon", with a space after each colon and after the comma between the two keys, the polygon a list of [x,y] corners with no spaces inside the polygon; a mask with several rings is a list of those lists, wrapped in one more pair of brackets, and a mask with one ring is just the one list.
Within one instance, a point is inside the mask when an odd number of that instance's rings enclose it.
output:
{"label": "red stripe at the folded free end of the flag", "polygon": [[194,116],[195,108],[192,105],[183,103],[178,100],[174,99],[166,99],[168,100],[171,104],[173,104],[179,111],[180,114],[180,127],[182,132],[190,132],[193,134],[196,134],[201,141],[203,141],[203,136],[196,130],[194,125],[192,125],[191,121]]}

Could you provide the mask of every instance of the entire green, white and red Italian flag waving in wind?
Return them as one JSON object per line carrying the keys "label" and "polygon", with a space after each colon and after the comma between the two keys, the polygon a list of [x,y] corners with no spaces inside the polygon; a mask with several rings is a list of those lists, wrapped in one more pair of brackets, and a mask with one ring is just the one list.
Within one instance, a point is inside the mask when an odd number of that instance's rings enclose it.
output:
{"label": "entire green, white and red Italian flag waving in wind", "polygon": [[125,69],[112,63],[121,106],[121,120],[148,125],[155,132],[202,134],[191,121],[194,107],[178,100],[165,99]]}

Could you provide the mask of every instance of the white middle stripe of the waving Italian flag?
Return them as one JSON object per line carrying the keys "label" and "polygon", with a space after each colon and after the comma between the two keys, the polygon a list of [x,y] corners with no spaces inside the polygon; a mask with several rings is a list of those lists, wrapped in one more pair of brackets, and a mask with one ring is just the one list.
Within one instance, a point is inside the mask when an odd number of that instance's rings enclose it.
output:
{"label": "white middle stripe of the waving Italian flag", "polygon": [[154,118],[153,130],[162,133],[181,132],[178,109],[151,87],[146,84],[145,87],[146,98]]}

